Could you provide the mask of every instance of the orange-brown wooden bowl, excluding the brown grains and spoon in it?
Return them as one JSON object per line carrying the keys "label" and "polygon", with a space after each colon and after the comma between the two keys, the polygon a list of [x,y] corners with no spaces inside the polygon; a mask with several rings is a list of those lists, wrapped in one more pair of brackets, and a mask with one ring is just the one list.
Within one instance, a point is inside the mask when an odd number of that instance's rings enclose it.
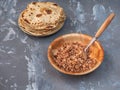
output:
{"label": "orange-brown wooden bowl, excluding the brown grains and spoon in it", "polygon": [[50,64],[56,70],[58,70],[64,74],[69,74],[69,75],[85,75],[85,74],[88,74],[88,73],[94,71],[95,69],[97,69],[100,66],[100,64],[102,63],[103,58],[104,58],[104,50],[98,41],[95,41],[90,46],[90,51],[91,51],[90,57],[95,58],[97,60],[97,64],[92,69],[85,71],[85,72],[72,73],[72,72],[66,72],[66,71],[60,69],[54,62],[53,51],[52,51],[52,50],[55,50],[56,48],[60,47],[60,45],[66,41],[79,41],[83,45],[87,45],[91,39],[92,39],[92,37],[89,35],[78,34],[78,33],[66,34],[66,35],[56,38],[48,47],[48,60],[49,60]]}

